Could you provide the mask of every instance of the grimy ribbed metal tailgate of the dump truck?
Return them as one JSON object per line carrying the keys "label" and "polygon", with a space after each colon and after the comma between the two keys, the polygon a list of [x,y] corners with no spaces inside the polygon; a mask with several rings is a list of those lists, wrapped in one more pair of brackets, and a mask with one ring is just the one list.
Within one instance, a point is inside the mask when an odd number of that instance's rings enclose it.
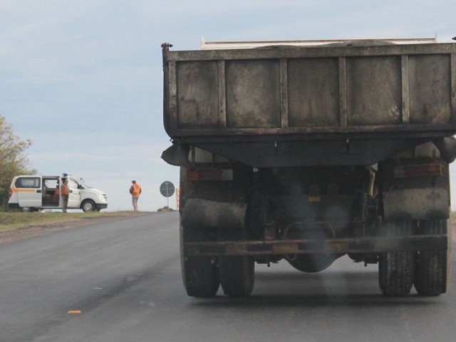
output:
{"label": "grimy ribbed metal tailgate of the dump truck", "polygon": [[[163,48],[172,138],[456,131],[456,44]],[[328,134],[331,133],[331,134]]]}

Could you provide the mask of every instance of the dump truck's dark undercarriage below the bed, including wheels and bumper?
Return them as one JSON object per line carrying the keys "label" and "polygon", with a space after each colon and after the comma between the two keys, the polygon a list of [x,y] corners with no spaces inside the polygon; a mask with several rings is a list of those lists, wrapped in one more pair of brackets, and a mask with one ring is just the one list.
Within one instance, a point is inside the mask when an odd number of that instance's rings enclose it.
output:
{"label": "dump truck's dark undercarriage below the bed, including wheels and bumper", "polygon": [[[438,158],[386,160],[378,170],[235,163],[182,167],[187,292],[214,296],[215,284],[221,283],[225,294],[247,296],[255,262],[284,259],[299,271],[316,272],[348,254],[353,261],[378,264],[383,294],[403,296],[413,284],[423,296],[445,293],[449,198],[439,189],[447,192],[447,182],[447,163]],[[399,205],[385,214],[385,199],[413,184],[420,184],[414,205],[421,204],[417,209],[423,212],[405,212]]]}

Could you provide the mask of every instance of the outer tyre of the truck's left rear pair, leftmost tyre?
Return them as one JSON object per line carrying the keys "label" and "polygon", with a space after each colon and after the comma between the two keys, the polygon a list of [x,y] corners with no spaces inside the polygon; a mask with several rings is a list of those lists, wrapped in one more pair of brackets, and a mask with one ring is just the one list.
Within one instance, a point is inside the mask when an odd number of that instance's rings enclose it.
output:
{"label": "outer tyre of the truck's left rear pair, leftmost tyre", "polygon": [[219,289],[219,273],[212,257],[185,257],[184,242],[208,240],[205,229],[180,224],[180,264],[187,295],[197,298],[214,297]]}

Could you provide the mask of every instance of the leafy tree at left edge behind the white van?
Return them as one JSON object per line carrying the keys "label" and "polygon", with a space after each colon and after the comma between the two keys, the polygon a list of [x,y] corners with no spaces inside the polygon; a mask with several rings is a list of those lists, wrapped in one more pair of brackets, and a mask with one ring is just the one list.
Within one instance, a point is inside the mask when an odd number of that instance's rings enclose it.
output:
{"label": "leafy tree at left edge behind the white van", "polygon": [[29,168],[25,150],[31,140],[21,140],[14,134],[13,126],[0,115],[0,211],[8,207],[9,186],[16,175],[31,175],[36,172]]}

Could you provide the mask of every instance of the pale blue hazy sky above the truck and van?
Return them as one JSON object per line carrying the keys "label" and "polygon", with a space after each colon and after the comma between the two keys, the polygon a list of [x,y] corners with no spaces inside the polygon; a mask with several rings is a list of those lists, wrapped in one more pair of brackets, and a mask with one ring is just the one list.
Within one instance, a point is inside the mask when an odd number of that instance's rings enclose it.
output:
{"label": "pale blue hazy sky above the truck and van", "polygon": [[[0,0],[0,115],[42,175],[83,177],[108,210],[175,208],[179,184],[160,159],[161,43],[456,36],[453,1]],[[453,177],[452,182],[456,183]],[[452,189],[454,185],[452,185]],[[452,190],[456,193],[456,190]],[[456,201],[453,200],[453,203]]]}

